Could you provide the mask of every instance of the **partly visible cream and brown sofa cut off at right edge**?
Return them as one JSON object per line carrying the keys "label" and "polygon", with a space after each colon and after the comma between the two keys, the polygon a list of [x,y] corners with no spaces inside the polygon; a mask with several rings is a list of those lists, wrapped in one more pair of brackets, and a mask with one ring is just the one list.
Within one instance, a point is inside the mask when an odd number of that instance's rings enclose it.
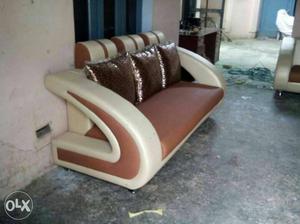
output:
{"label": "partly visible cream and brown sofa cut off at right edge", "polygon": [[282,91],[300,93],[300,40],[285,37],[275,71],[274,89],[277,95]]}

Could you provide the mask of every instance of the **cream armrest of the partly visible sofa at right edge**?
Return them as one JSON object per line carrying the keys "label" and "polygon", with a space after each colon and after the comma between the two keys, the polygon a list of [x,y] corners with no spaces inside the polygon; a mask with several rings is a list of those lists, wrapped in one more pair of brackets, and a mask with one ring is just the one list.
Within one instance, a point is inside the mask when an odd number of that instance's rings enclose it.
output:
{"label": "cream armrest of the partly visible sofa at right edge", "polygon": [[295,39],[285,37],[282,40],[275,71],[274,88],[287,90],[291,67],[293,66]]}

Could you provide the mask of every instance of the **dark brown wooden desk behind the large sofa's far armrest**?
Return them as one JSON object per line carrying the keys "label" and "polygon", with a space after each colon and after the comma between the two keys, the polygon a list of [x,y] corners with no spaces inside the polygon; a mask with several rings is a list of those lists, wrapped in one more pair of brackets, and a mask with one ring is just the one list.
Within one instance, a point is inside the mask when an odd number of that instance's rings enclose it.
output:
{"label": "dark brown wooden desk behind the large sofa's far armrest", "polygon": [[219,60],[220,30],[217,28],[203,28],[197,33],[181,32],[179,46],[195,52],[208,59],[211,63]]}

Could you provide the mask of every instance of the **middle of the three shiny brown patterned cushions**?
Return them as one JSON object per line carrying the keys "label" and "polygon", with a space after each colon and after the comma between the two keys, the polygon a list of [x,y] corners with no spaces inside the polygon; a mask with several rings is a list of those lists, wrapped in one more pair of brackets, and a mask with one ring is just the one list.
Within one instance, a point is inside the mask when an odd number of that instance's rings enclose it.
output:
{"label": "middle of the three shiny brown patterned cushions", "polygon": [[131,54],[136,80],[137,102],[162,89],[162,71],[155,47]]}

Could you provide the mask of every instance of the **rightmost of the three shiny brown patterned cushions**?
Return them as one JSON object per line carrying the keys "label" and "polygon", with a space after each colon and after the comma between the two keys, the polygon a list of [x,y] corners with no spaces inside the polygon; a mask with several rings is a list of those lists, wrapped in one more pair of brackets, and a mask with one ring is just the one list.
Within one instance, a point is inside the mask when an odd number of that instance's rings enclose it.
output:
{"label": "rightmost of the three shiny brown patterned cushions", "polygon": [[157,46],[164,65],[166,85],[169,86],[181,80],[181,66],[175,43]]}

